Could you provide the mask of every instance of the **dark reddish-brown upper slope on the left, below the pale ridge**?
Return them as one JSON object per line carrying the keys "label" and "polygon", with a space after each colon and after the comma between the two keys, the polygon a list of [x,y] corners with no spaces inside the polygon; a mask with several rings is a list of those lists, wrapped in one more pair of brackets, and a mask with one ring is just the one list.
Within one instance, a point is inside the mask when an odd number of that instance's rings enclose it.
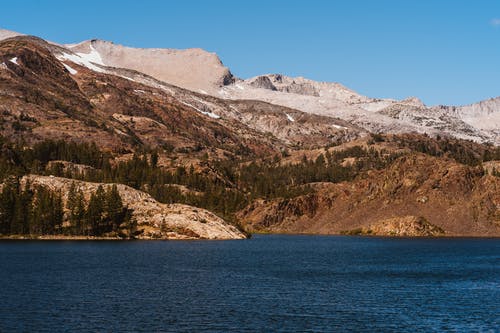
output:
{"label": "dark reddish-brown upper slope on the left, below the pale ridge", "polygon": [[99,56],[82,54],[34,37],[1,41],[0,112],[6,123],[1,134],[22,135],[9,126],[20,121],[17,128],[31,131],[32,140],[76,138],[110,149],[145,144],[262,154],[289,144],[345,141],[363,132],[338,119],[191,92],[99,65]]}

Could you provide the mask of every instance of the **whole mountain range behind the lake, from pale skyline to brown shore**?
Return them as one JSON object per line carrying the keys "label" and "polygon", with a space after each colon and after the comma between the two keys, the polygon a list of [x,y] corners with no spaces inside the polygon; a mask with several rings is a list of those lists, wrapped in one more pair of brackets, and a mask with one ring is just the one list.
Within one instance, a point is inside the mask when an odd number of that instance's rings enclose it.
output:
{"label": "whole mountain range behind the lake, from pale skyline to brown shore", "polygon": [[[239,79],[200,49],[2,30],[0,179],[122,184],[168,221],[208,210],[256,232],[499,235],[499,101],[428,107]],[[146,202],[126,201],[145,226]],[[175,237],[212,238],[202,220]]]}

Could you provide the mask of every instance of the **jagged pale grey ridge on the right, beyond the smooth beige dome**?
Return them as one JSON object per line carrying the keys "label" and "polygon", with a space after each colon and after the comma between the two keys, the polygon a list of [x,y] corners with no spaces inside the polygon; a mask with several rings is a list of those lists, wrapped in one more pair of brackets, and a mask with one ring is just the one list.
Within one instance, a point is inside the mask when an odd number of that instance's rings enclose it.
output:
{"label": "jagged pale grey ridge on the right, beyond the smooth beige dome", "polygon": [[[418,132],[500,144],[498,127],[494,125],[500,109],[491,103],[427,107],[414,97],[402,101],[368,98],[338,83],[279,74],[236,80],[222,87],[218,95],[227,99],[262,100],[306,113],[337,117],[375,133]],[[469,109],[477,112],[467,112]]]}

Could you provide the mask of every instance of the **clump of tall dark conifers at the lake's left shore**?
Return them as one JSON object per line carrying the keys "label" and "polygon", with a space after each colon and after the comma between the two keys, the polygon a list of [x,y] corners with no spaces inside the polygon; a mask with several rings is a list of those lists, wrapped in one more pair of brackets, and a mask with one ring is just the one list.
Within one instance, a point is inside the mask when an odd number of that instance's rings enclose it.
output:
{"label": "clump of tall dark conifers at the lake's left shore", "polygon": [[87,202],[72,183],[67,197],[65,215],[62,193],[9,177],[0,191],[0,234],[134,236],[137,224],[116,185],[99,186]]}

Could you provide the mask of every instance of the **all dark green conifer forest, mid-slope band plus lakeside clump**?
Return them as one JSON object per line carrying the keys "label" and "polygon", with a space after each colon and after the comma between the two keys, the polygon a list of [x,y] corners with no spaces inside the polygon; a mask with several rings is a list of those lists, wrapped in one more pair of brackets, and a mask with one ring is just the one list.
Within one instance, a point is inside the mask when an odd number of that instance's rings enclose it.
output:
{"label": "all dark green conifer forest, mid-slope band plus lakeside clump", "polygon": [[[388,140],[373,136],[374,142]],[[499,160],[500,149],[459,140],[421,137],[392,138],[398,146],[432,156],[446,156],[459,163],[478,165]],[[267,159],[228,158],[202,161],[195,168],[160,167],[160,153],[142,149],[129,160],[115,160],[96,144],[45,140],[26,147],[0,138],[0,233],[69,234],[101,236],[132,235],[134,221],[115,187],[100,187],[85,201],[78,189],[68,193],[69,224],[63,227],[60,193],[20,185],[26,174],[53,175],[99,183],[120,183],[151,194],[162,203],[185,203],[205,208],[235,223],[234,214],[256,198],[292,198],[311,191],[315,182],[351,181],[367,170],[383,169],[402,152],[352,146],[324,150],[315,159],[305,155],[298,162],[283,163],[286,152]],[[353,158],[353,163],[343,163]],[[55,163],[53,163],[56,161]],[[85,170],[65,168],[61,162],[89,166]],[[497,171],[493,171],[499,175]]]}

